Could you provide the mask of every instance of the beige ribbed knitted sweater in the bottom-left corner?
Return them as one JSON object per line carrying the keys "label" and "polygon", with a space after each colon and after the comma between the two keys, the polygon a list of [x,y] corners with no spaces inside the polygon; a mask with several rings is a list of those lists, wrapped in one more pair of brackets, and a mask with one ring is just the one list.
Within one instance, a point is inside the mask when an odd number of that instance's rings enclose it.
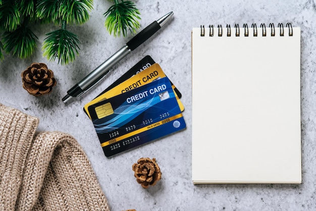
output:
{"label": "beige ribbed knitted sweater in the bottom-left corner", "polygon": [[109,210],[78,142],[0,104],[0,210]]}

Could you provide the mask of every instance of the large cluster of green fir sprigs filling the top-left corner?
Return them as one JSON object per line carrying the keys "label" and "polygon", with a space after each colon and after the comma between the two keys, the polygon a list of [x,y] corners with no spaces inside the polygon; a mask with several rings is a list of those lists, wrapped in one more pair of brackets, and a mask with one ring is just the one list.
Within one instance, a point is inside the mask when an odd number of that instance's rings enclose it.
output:
{"label": "large cluster of green fir sprigs filling the top-left corner", "polygon": [[[0,0],[0,60],[3,51],[25,59],[36,49],[37,36],[28,27],[29,22],[63,23],[60,30],[47,33],[44,56],[68,64],[78,54],[77,35],[66,30],[66,24],[82,24],[89,19],[92,0]],[[1,33],[0,33],[1,36]],[[55,39],[55,40],[54,40]]]}

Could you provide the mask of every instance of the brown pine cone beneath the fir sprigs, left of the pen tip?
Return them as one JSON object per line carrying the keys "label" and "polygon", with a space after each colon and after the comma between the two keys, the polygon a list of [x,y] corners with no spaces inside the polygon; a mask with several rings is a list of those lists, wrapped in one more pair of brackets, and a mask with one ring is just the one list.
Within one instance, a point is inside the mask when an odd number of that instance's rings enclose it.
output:
{"label": "brown pine cone beneath the fir sprigs, left of the pen tip", "polygon": [[54,73],[44,63],[32,63],[21,76],[23,88],[34,96],[49,94],[56,85]]}

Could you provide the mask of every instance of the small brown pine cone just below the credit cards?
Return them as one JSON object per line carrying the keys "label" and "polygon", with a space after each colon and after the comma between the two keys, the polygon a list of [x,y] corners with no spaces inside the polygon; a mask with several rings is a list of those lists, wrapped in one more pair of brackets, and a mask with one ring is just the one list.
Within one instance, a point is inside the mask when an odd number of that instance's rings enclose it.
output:
{"label": "small brown pine cone just below the credit cards", "polygon": [[142,157],[132,166],[136,181],[141,184],[143,188],[148,188],[149,185],[155,185],[157,181],[162,178],[160,167],[155,161],[155,158]]}

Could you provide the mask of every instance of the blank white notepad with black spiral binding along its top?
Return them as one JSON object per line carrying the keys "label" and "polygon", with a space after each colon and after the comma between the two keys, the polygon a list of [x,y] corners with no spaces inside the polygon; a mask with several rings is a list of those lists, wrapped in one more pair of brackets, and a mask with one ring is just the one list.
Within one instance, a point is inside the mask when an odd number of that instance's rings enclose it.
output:
{"label": "blank white notepad with black spiral binding along its top", "polygon": [[192,30],[192,180],[301,183],[300,28]]}

